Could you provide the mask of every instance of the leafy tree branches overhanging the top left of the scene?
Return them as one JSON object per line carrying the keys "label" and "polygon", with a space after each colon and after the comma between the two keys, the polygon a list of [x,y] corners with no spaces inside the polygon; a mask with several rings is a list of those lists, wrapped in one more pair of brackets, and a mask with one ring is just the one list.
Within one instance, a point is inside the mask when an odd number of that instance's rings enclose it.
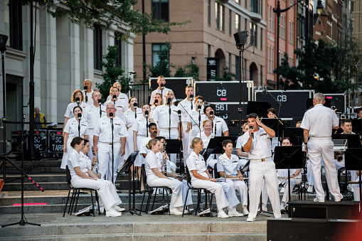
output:
{"label": "leafy tree branches overhanging the top left of the scene", "polygon": [[[21,0],[23,4],[30,4],[32,0]],[[126,39],[129,33],[142,35],[147,33],[169,33],[171,26],[182,26],[189,23],[164,23],[162,19],[154,19],[152,13],[141,14],[134,9],[138,0],[38,0],[53,17],[68,16],[74,23],[85,23],[92,27],[99,23],[105,28],[111,25],[127,26],[127,33],[122,36]]]}

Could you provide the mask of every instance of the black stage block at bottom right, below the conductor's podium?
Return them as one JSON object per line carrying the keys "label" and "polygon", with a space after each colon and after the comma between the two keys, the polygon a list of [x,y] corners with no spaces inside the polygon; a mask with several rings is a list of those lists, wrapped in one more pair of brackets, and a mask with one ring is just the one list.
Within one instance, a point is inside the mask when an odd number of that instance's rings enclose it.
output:
{"label": "black stage block at bottom right, below the conductor's podium", "polygon": [[[361,220],[327,220],[326,223],[307,223],[292,221],[292,218],[267,220],[267,240],[341,240],[341,233],[348,229],[348,235],[356,237]],[[351,231],[349,231],[351,230]]]}

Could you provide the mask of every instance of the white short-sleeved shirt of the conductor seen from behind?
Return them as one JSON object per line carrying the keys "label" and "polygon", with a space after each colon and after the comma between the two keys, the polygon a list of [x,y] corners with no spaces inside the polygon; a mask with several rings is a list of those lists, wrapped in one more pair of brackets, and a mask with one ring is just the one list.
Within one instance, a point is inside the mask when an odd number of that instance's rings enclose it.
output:
{"label": "white short-sleeved shirt of the conductor seen from behind", "polygon": [[317,104],[304,113],[300,128],[308,129],[309,137],[331,137],[331,129],[338,125],[336,112],[324,105]]}

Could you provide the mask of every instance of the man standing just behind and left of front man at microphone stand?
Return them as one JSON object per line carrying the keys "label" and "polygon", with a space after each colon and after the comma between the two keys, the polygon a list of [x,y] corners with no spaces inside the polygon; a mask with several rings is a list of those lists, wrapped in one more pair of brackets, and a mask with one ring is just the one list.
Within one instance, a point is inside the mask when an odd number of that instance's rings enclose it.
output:
{"label": "man standing just behind and left of front man at microphone stand", "polygon": [[89,134],[89,143],[90,143],[90,151],[88,152],[88,157],[90,160],[93,159],[93,152],[92,152],[92,146],[93,146],[93,130],[95,129],[95,124],[97,124],[98,119],[100,117],[105,117],[107,115],[105,111],[105,106],[100,105],[98,100],[102,98],[102,95],[100,95],[99,90],[95,90],[92,93],[92,105],[88,105],[83,110],[83,119],[85,119],[88,122],[88,134]]}

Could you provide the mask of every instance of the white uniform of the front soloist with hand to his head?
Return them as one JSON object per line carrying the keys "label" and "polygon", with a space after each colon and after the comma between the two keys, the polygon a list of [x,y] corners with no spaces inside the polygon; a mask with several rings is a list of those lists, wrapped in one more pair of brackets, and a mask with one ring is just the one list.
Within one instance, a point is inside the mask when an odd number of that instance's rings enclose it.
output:
{"label": "white uniform of the front soloist with hand to his head", "polygon": [[[242,146],[245,146],[250,133],[243,134],[241,141]],[[248,152],[250,159],[250,208],[248,218],[255,218],[257,215],[258,203],[260,194],[262,192],[262,180],[265,180],[267,186],[267,193],[269,194],[270,203],[272,203],[273,213],[275,218],[281,218],[280,213],[280,199],[279,199],[279,184],[277,178],[277,171],[275,170],[275,163],[272,161],[270,136],[265,132],[265,129],[259,127],[257,132],[254,132],[252,139],[252,146]],[[265,160],[265,161],[263,161]]]}

